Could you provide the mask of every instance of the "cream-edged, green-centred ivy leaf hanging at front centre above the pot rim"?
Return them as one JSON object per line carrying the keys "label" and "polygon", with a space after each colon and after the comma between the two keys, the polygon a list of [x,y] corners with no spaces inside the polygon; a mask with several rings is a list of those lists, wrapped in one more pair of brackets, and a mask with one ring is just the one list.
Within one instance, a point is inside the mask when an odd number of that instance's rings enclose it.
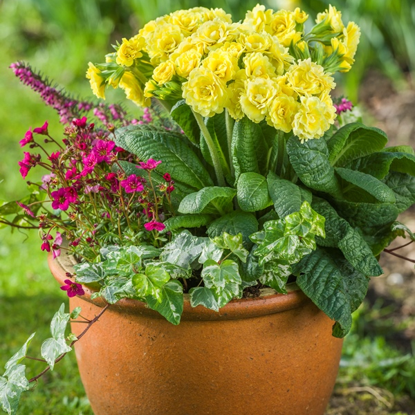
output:
{"label": "cream-edged, green-centred ivy leaf hanging at front centre above the pot rim", "polygon": [[231,259],[218,264],[208,259],[201,273],[206,288],[210,288],[219,307],[228,304],[234,297],[241,295],[241,276],[238,264]]}

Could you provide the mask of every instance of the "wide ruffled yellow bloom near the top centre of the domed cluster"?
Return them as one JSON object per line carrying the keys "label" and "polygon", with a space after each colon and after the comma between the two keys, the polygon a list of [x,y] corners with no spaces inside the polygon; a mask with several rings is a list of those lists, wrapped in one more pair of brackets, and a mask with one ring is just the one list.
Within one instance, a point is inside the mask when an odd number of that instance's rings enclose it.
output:
{"label": "wide ruffled yellow bloom near the top centre of the domed cluster", "polygon": [[236,36],[235,26],[216,18],[202,24],[192,35],[192,42],[202,44],[203,52],[209,53],[213,46],[220,47],[225,42],[232,42]]}

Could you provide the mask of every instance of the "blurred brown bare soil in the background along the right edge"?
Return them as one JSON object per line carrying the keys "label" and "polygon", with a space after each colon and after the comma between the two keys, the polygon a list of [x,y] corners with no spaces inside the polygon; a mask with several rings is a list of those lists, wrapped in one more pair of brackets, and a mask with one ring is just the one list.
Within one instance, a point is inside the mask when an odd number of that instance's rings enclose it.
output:
{"label": "blurred brown bare soil in the background along the right edge", "polygon": [[[372,71],[360,91],[363,111],[373,118],[371,125],[385,131],[389,145],[415,147],[415,88],[397,91],[384,75]],[[415,232],[415,208],[398,218]],[[409,239],[398,238],[389,247],[395,248]],[[415,260],[415,243],[395,251]],[[371,279],[367,299],[371,306],[388,307],[389,313],[373,323],[373,332],[382,335],[388,344],[402,353],[414,353],[415,344],[415,269],[414,263],[382,252],[380,265],[384,274]],[[384,321],[382,322],[382,319]],[[387,320],[387,321],[386,321]],[[385,323],[385,324],[383,324]],[[391,327],[394,329],[391,330]],[[394,396],[380,387],[367,385],[335,386],[325,415],[415,415],[415,400]]]}

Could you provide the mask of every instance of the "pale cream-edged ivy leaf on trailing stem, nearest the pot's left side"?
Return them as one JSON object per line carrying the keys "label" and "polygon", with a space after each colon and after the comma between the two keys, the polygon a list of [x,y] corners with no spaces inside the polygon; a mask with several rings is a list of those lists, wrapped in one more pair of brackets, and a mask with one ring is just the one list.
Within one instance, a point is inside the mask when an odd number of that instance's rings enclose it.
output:
{"label": "pale cream-edged ivy leaf on trailing stem, nearest the pot's left side", "polygon": [[65,329],[68,324],[71,314],[65,313],[65,304],[59,307],[59,310],[53,316],[52,322],[50,322],[51,338],[46,339],[42,343],[41,354],[42,358],[48,362],[50,370],[53,370],[55,366],[55,360],[62,353],[71,351],[71,347],[66,344]]}

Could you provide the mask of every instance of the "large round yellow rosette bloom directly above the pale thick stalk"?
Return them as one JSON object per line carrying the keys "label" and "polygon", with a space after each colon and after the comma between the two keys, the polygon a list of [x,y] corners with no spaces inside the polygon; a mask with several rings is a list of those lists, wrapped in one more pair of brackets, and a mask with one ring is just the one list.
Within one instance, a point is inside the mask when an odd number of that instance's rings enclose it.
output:
{"label": "large round yellow rosette bloom directly above the pale thick stalk", "polygon": [[182,89],[186,104],[203,117],[223,112],[228,104],[225,82],[203,66],[190,73],[189,81],[183,83]]}

